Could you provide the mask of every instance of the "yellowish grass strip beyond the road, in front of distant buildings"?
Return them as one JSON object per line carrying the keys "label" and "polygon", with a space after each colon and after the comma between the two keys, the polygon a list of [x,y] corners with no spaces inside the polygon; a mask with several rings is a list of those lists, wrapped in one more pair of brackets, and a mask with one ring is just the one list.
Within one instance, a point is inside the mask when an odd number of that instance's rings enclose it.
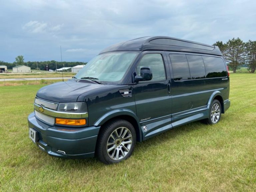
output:
{"label": "yellowish grass strip beyond the road, in front of distant buildings", "polygon": [[[76,73],[63,72],[63,77],[72,77]],[[45,72],[45,73],[0,73],[0,79],[9,78],[37,78],[37,77],[62,77],[61,72]]]}

